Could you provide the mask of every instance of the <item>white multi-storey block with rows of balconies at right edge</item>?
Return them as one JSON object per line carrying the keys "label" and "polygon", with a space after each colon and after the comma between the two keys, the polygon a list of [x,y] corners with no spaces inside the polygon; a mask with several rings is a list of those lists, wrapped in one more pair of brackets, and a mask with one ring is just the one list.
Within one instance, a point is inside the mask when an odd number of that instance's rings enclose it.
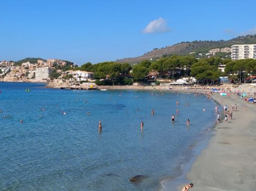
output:
{"label": "white multi-storey block with rows of balconies at right edge", "polygon": [[231,46],[231,59],[256,59],[256,44],[240,44]]}

